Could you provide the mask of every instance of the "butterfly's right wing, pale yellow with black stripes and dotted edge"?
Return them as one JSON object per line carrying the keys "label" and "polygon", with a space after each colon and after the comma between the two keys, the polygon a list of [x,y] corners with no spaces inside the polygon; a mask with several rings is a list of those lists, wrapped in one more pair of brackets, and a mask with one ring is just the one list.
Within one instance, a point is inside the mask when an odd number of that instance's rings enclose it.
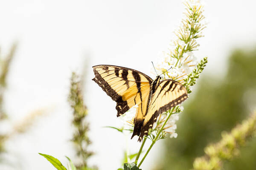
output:
{"label": "butterfly's right wing, pale yellow with black stripes and dotted edge", "polygon": [[152,128],[159,114],[183,102],[188,97],[187,94],[186,88],[179,82],[172,79],[160,82],[151,96],[148,112],[140,131],[139,141],[142,140],[144,135],[148,134],[148,129]]}

